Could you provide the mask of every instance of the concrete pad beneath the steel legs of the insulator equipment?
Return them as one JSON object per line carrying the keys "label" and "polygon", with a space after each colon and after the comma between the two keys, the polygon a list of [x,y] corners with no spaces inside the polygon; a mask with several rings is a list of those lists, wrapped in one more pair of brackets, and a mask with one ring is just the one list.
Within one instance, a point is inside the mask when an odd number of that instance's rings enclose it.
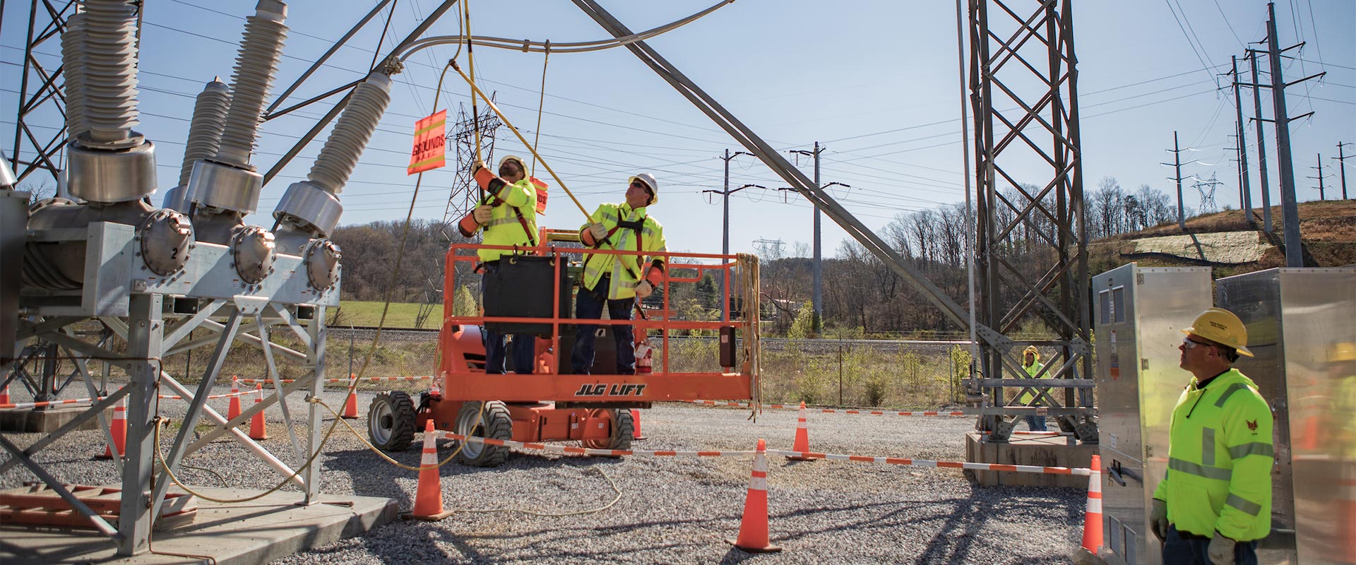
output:
{"label": "concrete pad beneath the steel legs of the insulator equipment", "polygon": [[[197,488],[216,499],[244,499],[262,490]],[[172,492],[176,489],[172,489]],[[113,542],[87,528],[0,526],[0,562],[19,564],[184,564],[202,558],[165,553],[210,556],[218,565],[270,562],[296,551],[321,547],[343,538],[366,534],[396,519],[393,499],[321,495],[320,504],[296,505],[297,492],[275,492],[243,504],[198,500],[191,524],[151,535],[160,554],[118,557]]]}

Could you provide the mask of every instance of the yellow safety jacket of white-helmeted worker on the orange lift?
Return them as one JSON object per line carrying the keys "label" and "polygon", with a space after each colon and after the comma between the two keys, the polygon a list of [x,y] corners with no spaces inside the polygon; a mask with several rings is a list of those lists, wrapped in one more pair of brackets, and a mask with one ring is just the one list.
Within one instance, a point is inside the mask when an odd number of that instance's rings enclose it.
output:
{"label": "yellow safety jacket of white-helmeted worker on the orange lift", "polygon": [[[632,287],[640,282],[641,276],[645,276],[650,261],[656,259],[651,253],[669,251],[664,241],[664,228],[655,218],[645,215],[644,207],[632,209],[628,203],[598,206],[598,210],[593,213],[593,218],[612,233],[607,236],[606,243],[598,244],[598,249],[645,251],[648,253],[644,257],[584,253],[584,289],[593,290],[598,286],[598,280],[602,280],[602,275],[612,275],[612,285],[607,285],[607,299],[635,297],[636,291]],[[640,229],[640,244],[644,248],[637,248],[636,230],[617,228],[617,222],[636,222],[641,218],[644,218],[644,224]],[[579,232],[583,233],[586,229],[589,229],[589,224],[584,224]],[[669,260],[669,257],[658,259],[666,263]]]}

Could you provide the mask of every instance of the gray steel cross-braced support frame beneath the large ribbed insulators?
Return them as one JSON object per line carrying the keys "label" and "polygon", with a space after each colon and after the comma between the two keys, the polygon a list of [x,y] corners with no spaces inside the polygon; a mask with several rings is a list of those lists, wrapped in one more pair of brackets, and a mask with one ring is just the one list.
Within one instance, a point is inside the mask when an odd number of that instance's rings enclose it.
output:
{"label": "gray steel cross-braced support frame beneath the large ribbed insulators", "polygon": [[[20,341],[42,340],[42,343],[49,344],[45,347],[57,348],[62,352],[61,356],[72,359],[76,366],[75,375],[84,381],[85,390],[91,393],[91,397],[103,392],[106,383],[96,385],[94,382],[94,375],[88,370],[89,360],[98,360],[104,367],[121,367],[127,374],[129,382],[91,405],[71,423],[24,450],[19,450],[7,439],[0,440],[0,446],[11,455],[7,461],[0,462],[0,473],[15,465],[23,465],[60,496],[68,497],[69,492],[61,486],[61,481],[43,470],[33,455],[94,417],[100,419],[104,439],[111,439],[103,412],[118,400],[126,398],[126,458],[121,462],[123,497],[117,527],[96,519],[88,508],[81,509],[80,504],[72,504],[81,514],[95,518],[96,527],[100,523],[106,526],[100,527],[100,531],[117,542],[119,554],[134,556],[149,547],[151,530],[160,516],[165,495],[172,486],[168,473],[159,466],[159,458],[163,457],[171,470],[178,470],[186,458],[221,435],[231,435],[239,440],[248,451],[273,467],[281,477],[279,481],[289,481],[300,486],[302,490],[301,504],[315,504],[320,493],[319,465],[313,463],[301,473],[296,469],[305,465],[305,461],[321,447],[323,408],[308,402],[309,431],[304,435],[305,443],[302,443],[302,435],[293,431],[290,425],[287,427],[292,436],[292,466],[250,439],[239,427],[247,424],[255,413],[273,404],[279,404],[283,415],[292,421],[292,409],[287,404],[290,393],[301,390],[311,397],[319,396],[324,390],[325,306],[338,304],[338,286],[327,291],[315,291],[306,283],[305,264],[301,257],[290,255],[279,255],[275,261],[275,272],[259,285],[225,283],[220,270],[231,268],[231,253],[225,248],[218,249],[212,244],[199,244],[194,253],[195,260],[190,261],[172,282],[148,280],[138,268],[141,259],[134,253],[121,251],[129,241],[130,230],[110,229],[111,226],[96,222],[84,230],[83,237],[79,237],[79,240],[88,238],[91,241],[87,252],[96,255],[98,264],[102,267],[87,271],[85,286],[111,285],[110,287],[130,289],[130,293],[125,295],[125,305],[110,308],[106,301],[95,301],[84,306],[73,306],[69,298],[85,297],[84,290],[66,291],[66,297],[62,297],[62,293],[34,293],[26,289],[20,294],[19,305],[33,316],[19,321],[16,335]],[[69,233],[34,232],[30,234],[30,240],[46,241],[65,236]],[[110,274],[122,276],[123,280],[111,282]],[[193,314],[174,313],[170,301],[164,299],[165,295],[180,301],[195,298],[199,304],[198,310]],[[298,308],[305,308],[308,314],[297,316]],[[100,316],[100,312],[110,309],[122,313],[122,316]],[[218,320],[225,320],[225,322]],[[96,321],[103,328],[99,332],[76,331],[75,324],[87,321]],[[294,335],[302,343],[301,351],[273,343],[270,328],[274,327],[286,328],[285,332]],[[203,333],[207,335],[187,340],[188,333],[194,329],[206,331]],[[256,332],[256,335],[250,332]],[[126,352],[113,351],[107,344],[108,336],[125,340],[127,343]],[[243,411],[239,417],[228,420],[207,406],[205,401],[212,386],[218,381],[231,346],[236,341],[263,348],[268,363],[268,377],[274,382],[275,392],[263,402]],[[194,389],[184,386],[164,370],[163,359],[168,352],[209,346],[213,347],[213,352],[203,373],[194,375],[198,378],[198,385]],[[283,385],[278,371],[279,360],[300,362],[308,371],[294,382]],[[190,406],[176,436],[168,448],[157,455],[155,451],[157,447],[155,425],[161,386],[168,388],[174,394],[183,396]],[[202,420],[212,421],[216,427],[194,440],[197,424]]]}

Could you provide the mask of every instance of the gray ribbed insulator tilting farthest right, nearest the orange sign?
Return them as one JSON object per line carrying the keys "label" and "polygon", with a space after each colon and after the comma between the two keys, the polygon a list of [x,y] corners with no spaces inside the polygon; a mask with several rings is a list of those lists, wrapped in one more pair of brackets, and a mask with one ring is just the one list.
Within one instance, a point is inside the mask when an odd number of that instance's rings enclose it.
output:
{"label": "gray ribbed insulator tilting farthest right, nearest the orange sign", "polygon": [[320,156],[311,167],[306,179],[336,195],[342,192],[389,103],[391,77],[373,70],[367,75],[367,80],[354,88],[348,107],[330,131],[330,138],[320,149]]}

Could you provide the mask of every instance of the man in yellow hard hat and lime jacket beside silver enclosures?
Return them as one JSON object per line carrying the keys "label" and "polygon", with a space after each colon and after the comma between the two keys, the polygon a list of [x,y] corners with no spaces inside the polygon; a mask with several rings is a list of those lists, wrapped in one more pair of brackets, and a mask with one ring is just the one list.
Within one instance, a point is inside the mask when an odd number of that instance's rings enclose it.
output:
{"label": "man in yellow hard hat and lime jacket beside silver enclosures", "polygon": [[1237,369],[1248,329],[1234,313],[1196,316],[1181,346],[1193,378],[1170,423],[1168,474],[1154,490],[1150,524],[1163,564],[1256,564],[1271,531],[1272,412]]}

